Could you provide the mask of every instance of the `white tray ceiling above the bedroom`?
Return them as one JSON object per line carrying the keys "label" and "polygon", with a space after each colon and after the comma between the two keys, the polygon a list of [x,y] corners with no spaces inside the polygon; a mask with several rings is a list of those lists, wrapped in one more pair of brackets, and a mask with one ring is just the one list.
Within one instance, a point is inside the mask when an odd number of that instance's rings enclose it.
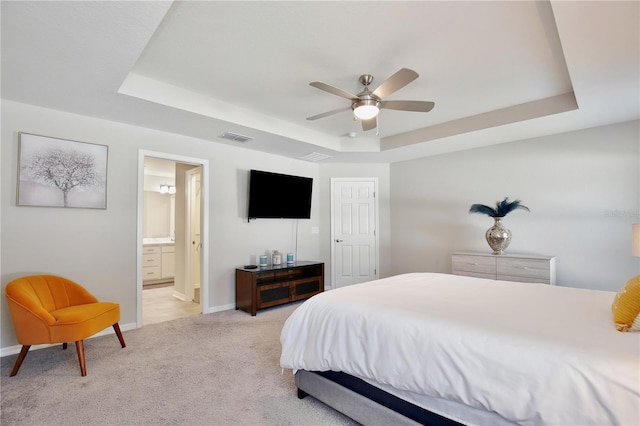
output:
{"label": "white tray ceiling above the bedroom", "polygon": [[[636,1],[2,1],[2,98],[297,158],[391,162],[640,117]],[[420,77],[364,132],[347,99]],[[251,136],[221,139],[224,132]],[[355,133],[355,137],[347,136]]]}

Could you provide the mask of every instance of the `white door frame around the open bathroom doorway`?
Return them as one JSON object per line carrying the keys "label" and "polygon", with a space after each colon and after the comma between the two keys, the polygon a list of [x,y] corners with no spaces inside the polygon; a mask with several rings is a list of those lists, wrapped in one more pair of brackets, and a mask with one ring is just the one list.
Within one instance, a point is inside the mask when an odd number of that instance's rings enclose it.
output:
{"label": "white door frame around the open bathroom doorway", "polygon": [[136,229],[136,327],[142,327],[142,227],[144,209],[144,159],[145,157],[169,160],[200,166],[200,309],[207,313],[209,305],[209,160],[204,158],[186,157],[166,152],[138,150],[138,212]]}

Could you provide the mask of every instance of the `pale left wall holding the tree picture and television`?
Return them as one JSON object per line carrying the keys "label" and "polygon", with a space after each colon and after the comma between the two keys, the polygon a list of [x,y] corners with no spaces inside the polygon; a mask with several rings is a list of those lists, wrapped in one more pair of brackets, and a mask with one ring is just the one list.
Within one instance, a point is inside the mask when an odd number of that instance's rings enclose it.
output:
{"label": "pale left wall holding the tree picture and television", "polygon": [[[320,260],[318,165],[195,138],[2,100],[2,288],[20,276],[63,275],[99,299],[117,302],[121,325],[136,321],[138,152],[149,150],[210,163],[209,304],[235,304],[234,271],[264,250],[293,251],[292,220],[247,223],[251,168],[314,178],[311,220],[299,221],[299,259]],[[107,209],[16,207],[18,132],[109,146]],[[6,300],[1,347],[17,344]]]}

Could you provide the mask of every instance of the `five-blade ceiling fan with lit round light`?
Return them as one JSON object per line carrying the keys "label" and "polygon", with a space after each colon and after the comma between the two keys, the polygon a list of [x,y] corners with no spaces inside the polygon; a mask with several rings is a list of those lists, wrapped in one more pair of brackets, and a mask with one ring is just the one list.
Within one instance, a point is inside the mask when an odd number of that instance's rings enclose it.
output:
{"label": "five-blade ceiling fan with lit round light", "polygon": [[418,73],[408,68],[402,68],[378,86],[373,92],[369,90],[369,85],[373,81],[371,74],[363,74],[358,81],[364,86],[364,90],[357,95],[346,92],[337,87],[330,86],[321,81],[309,83],[317,89],[341,96],[351,101],[351,106],[334,109],[322,114],[307,117],[307,120],[317,120],[328,117],[339,112],[353,110],[354,119],[362,121],[363,130],[375,129],[378,126],[378,112],[382,108],[395,109],[401,111],[429,112],[435,106],[433,102],[427,101],[385,101],[384,98],[411,83],[418,78]]}

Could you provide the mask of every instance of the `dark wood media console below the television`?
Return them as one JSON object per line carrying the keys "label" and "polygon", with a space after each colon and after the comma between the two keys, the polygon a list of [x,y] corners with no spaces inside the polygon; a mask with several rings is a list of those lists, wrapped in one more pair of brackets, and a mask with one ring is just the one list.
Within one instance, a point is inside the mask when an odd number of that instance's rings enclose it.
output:
{"label": "dark wood media console below the television", "polygon": [[236,269],[236,309],[256,311],[324,291],[324,263],[300,261],[257,269]]}

